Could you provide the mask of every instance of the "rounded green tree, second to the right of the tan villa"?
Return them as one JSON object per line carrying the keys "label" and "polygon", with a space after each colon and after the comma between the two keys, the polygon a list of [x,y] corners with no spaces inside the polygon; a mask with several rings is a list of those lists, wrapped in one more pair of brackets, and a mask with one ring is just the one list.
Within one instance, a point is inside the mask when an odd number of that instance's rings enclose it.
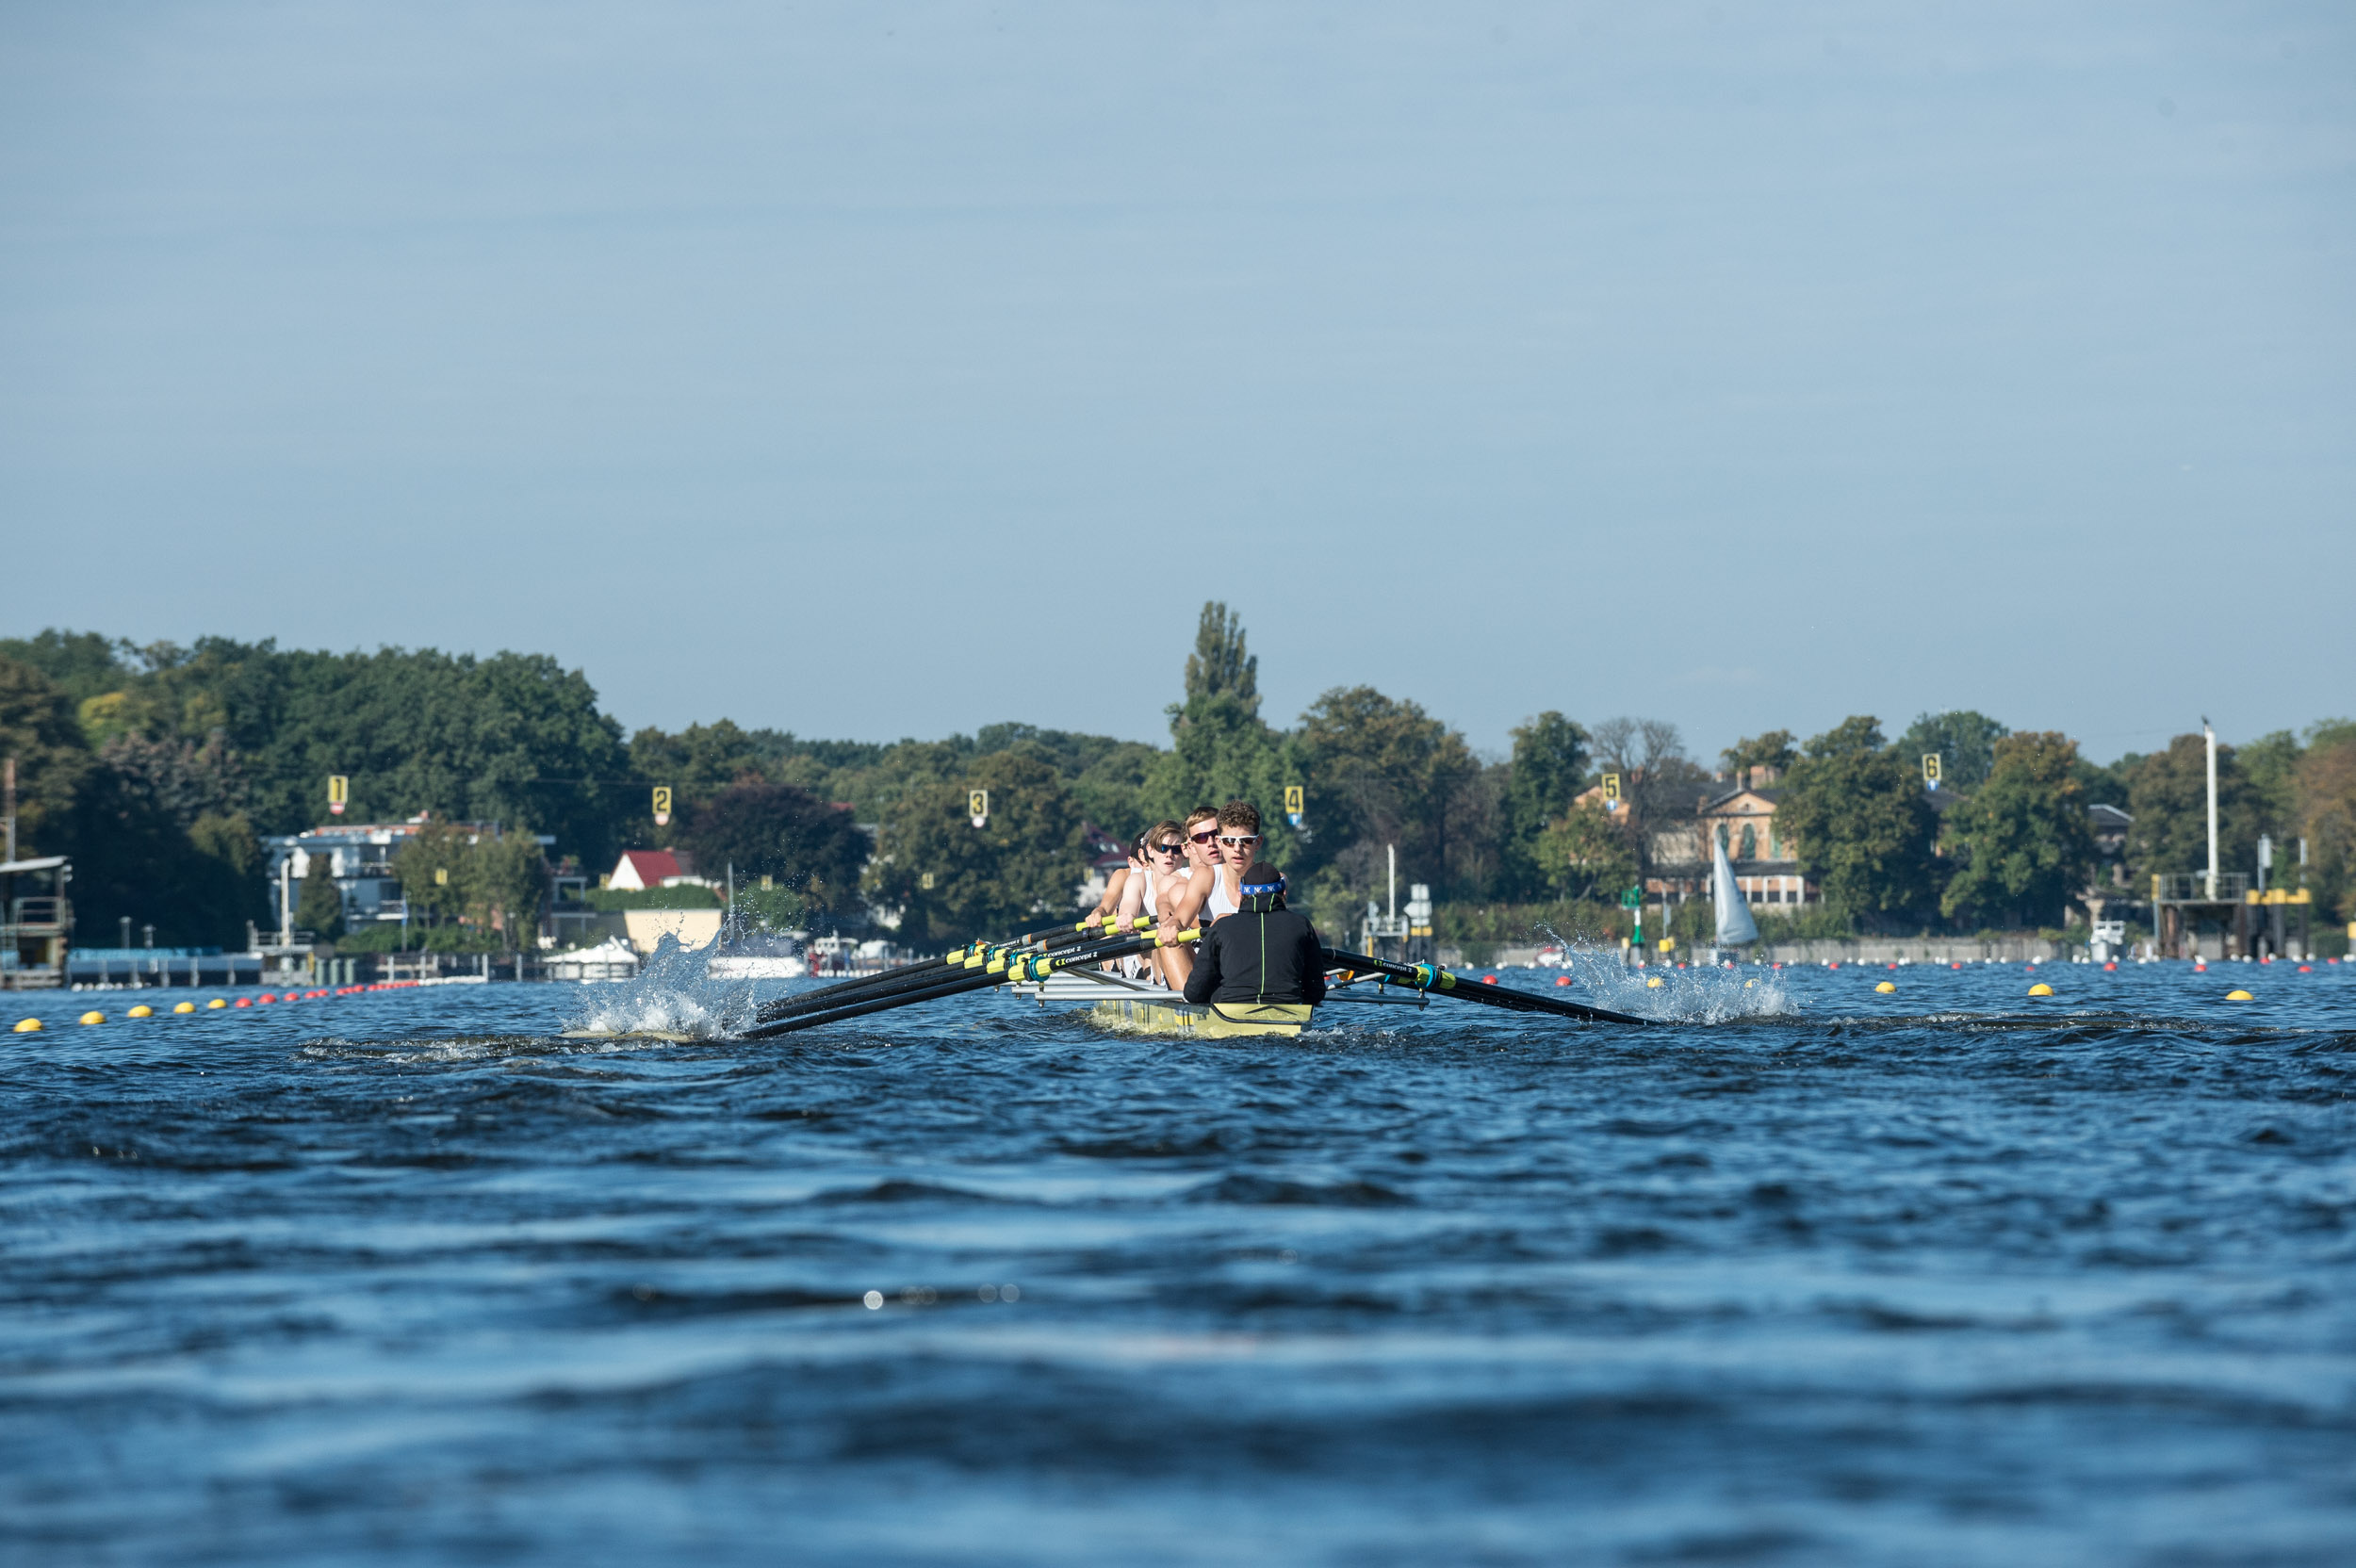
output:
{"label": "rounded green tree, second to the right of the tan villa", "polygon": [[1941,913],[1977,925],[2066,925],[2066,906],[2094,864],[2076,760],[2078,742],[2064,735],[1996,742],[1986,782],[1946,817],[1958,869],[1939,897]]}

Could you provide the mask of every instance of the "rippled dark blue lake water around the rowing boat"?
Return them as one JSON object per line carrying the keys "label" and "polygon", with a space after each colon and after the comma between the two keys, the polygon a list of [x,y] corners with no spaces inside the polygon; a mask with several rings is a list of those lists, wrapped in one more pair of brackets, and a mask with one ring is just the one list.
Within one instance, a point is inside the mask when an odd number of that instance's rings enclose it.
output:
{"label": "rippled dark blue lake water around the rowing boat", "polygon": [[2356,1561],[2356,970],[2043,977],[1291,1043],[16,998],[0,1556]]}

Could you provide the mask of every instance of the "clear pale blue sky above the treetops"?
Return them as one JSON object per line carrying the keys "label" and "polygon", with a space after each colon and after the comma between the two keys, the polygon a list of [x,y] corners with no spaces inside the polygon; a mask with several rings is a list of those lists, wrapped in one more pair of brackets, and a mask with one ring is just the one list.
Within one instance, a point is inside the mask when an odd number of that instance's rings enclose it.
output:
{"label": "clear pale blue sky above the treetops", "polygon": [[1159,739],[2356,711],[2356,12],[0,19],[5,631]]}

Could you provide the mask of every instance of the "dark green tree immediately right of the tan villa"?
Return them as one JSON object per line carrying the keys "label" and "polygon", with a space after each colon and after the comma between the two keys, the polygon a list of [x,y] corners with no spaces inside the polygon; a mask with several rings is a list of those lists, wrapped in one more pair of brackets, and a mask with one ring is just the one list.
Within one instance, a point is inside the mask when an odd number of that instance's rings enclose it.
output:
{"label": "dark green tree immediately right of the tan villa", "polygon": [[1809,739],[1776,803],[1776,838],[1852,923],[1887,925],[1937,904],[1937,826],[1918,770],[1882,746],[1880,723],[1866,716]]}

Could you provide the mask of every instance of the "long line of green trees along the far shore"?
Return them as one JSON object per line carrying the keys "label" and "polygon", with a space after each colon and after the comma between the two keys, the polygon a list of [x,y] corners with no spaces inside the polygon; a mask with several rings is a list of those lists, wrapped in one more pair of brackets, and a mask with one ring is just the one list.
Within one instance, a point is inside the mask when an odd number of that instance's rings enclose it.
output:
{"label": "long line of green trees along the far shore", "polygon": [[[1765,911],[1769,935],[2059,925],[2097,876],[2097,800],[2135,817],[2130,892],[2208,852],[2198,735],[2097,765],[2064,735],[2014,735],[1984,713],[1930,713],[1894,742],[1857,716],[1807,739],[1767,730],[1703,765],[1666,720],[1543,711],[1484,756],[1366,685],[1270,723],[1258,657],[1218,603],[1176,673],[1164,746],[1025,723],[836,742],[721,718],[624,737],[587,678],[544,655],[132,647],[42,631],[0,640],[0,746],[19,758],[26,845],[75,857],[85,925],[132,916],[158,942],[243,942],[247,918],[273,923],[259,841],[325,822],[330,775],[351,779],[344,822],[426,812],[495,829],[436,841],[434,866],[419,852],[401,871],[419,916],[476,942],[516,942],[537,918],[525,904],[549,866],[532,833],[584,873],[624,848],[688,850],[714,876],[733,866],[744,902],[780,925],[881,921],[919,946],[1070,909],[1091,829],[1126,841],[1227,798],[1260,805],[1268,857],[1319,923],[1352,928],[1397,848],[1402,883],[1442,899],[1444,937],[1501,942],[1621,932],[1619,895],[1689,859],[1699,838],[1680,824],[1743,777],[1774,779],[1774,848],[1824,892]],[[1944,758],[1939,796],[1922,789],[1925,751]],[[1614,812],[1581,800],[1607,772],[1621,777]],[[657,784],[674,791],[662,826]],[[1298,829],[1279,810],[1289,784],[1308,793]],[[990,791],[982,829],[973,789]],[[2229,869],[2271,836],[2278,881],[2304,876],[2318,916],[2356,913],[2356,725],[2222,749],[2219,819]],[[450,862],[450,883],[410,888]]]}

